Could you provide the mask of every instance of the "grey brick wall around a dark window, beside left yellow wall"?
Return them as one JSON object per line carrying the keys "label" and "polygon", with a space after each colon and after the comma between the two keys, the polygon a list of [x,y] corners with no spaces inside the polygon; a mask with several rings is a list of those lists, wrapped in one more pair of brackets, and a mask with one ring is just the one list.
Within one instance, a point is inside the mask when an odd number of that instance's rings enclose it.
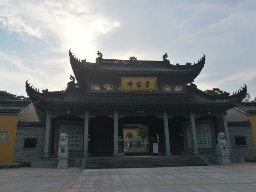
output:
{"label": "grey brick wall around a dark window, beside left yellow wall", "polygon": [[[20,122],[17,126],[17,134],[14,148],[14,163],[22,163],[30,166],[31,160],[42,158],[44,154],[45,124],[40,122]],[[36,149],[23,149],[24,138],[37,138]]]}

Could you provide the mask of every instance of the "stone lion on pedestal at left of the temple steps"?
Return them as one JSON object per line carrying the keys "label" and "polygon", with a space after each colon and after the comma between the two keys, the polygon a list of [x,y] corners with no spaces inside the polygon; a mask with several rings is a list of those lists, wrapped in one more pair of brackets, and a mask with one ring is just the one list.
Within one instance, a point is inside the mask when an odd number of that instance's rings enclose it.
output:
{"label": "stone lion on pedestal at left of the temple steps", "polygon": [[68,168],[68,155],[67,134],[62,133],[59,137],[57,169]]}

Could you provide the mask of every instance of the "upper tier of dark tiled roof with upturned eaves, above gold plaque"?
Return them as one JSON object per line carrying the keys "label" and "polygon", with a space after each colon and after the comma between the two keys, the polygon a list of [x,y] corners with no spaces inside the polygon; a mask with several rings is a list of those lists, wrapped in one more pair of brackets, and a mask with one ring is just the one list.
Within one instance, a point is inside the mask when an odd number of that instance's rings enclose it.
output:
{"label": "upper tier of dark tiled roof with upturned eaves, above gold plaque", "polygon": [[[79,85],[84,85],[88,79],[93,79],[95,76],[108,75],[108,76],[136,76],[140,73],[144,76],[162,77],[167,75],[174,81],[182,81],[184,84],[194,81],[198,76],[205,64],[205,55],[198,60],[198,63],[185,65],[170,64],[169,60],[163,57],[163,61],[140,61],[140,60],[117,60],[117,59],[103,59],[102,54],[96,58],[95,63],[80,61],[69,50],[70,64],[76,81]],[[167,54],[166,54],[167,56]]]}

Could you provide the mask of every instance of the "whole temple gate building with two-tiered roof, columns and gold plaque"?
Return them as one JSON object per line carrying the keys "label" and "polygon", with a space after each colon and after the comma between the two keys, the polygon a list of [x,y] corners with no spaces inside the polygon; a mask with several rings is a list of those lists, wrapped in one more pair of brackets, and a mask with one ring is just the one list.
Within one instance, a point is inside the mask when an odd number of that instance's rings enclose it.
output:
{"label": "whole temple gate building with two-tiered roof, columns and gold plaque", "polygon": [[218,132],[226,134],[232,154],[226,114],[247,88],[233,94],[199,90],[193,82],[205,55],[184,65],[171,64],[167,53],[161,61],[97,55],[87,62],[69,51],[74,76],[65,90],[40,92],[26,81],[29,98],[47,115],[43,157],[57,157],[60,133],[68,134],[70,157],[128,155],[140,125],[148,128],[137,144],[145,149],[137,150],[140,155],[214,155]]}

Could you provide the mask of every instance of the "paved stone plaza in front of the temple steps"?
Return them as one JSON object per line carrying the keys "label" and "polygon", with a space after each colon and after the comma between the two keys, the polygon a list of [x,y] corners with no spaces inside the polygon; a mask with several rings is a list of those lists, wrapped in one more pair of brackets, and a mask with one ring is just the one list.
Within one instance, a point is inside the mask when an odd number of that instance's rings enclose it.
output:
{"label": "paved stone plaza in front of the temple steps", "polygon": [[255,192],[256,163],[130,169],[0,169],[1,192]]}

